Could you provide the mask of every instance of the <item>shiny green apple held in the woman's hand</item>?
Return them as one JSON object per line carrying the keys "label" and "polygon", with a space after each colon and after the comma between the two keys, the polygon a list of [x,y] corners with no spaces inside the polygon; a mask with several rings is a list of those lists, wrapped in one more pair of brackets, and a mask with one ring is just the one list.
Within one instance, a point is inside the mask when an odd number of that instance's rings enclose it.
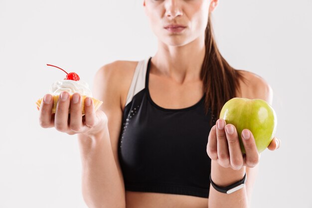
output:
{"label": "shiny green apple held in the woman's hand", "polygon": [[274,138],[277,125],[276,114],[264,100],[232,98],[222,107],[220,118],[227,124],[235,126],[242,153],[246,153],[241,138],[243,129],[252,132],[259,153],[264,151]]}

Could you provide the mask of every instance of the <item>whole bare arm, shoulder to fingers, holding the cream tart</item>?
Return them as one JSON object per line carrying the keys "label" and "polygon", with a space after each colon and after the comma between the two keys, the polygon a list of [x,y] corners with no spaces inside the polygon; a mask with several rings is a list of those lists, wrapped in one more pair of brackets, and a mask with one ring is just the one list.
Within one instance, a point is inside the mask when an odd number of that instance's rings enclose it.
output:
{"label": "whole bare arm, shoulder to fingers, holding the cream tart", "polygon": [[[94,80],[93,96],[103,100],[94,111],[91,98],[67,91],[60,94],[55,114],[53,97],[46,94],[40,105],[39,122],[69,135],[78,135],[82,162],[83,198],[90,208],[125,208],[125,189],[118,160],[123,107],[137,62],[116,61],[103,66]],[[69,116],[70,113],[70,116]]]}

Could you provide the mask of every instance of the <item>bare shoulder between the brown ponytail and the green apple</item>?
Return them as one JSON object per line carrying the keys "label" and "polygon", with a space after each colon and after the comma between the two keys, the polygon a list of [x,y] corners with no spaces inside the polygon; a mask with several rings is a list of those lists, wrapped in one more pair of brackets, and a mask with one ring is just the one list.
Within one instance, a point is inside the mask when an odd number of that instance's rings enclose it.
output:
{"label": "bare shoulder between the brown ponytail and the green apple", "polygon": [[238,97],[245,97],[249,99],[262,99],[272,104],[273,91],[271,86],[259,75],[239,70],[242,75],[239,84]]}

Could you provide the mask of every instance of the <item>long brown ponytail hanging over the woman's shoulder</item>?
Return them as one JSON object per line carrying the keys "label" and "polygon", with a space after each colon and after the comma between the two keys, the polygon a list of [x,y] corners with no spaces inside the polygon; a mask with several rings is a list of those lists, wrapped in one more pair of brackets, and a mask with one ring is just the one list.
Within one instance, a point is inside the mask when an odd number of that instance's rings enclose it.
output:
{"label": "long brown ponytail hanging over the woman's shoulder", "polygon": [[222,106],[235,97],[239,91],[239,80],[243,78],[240,71],[231,67],[220,54],[213,37],[209,14],[205,36],[205,57],[200,77],[205,91],[205,112],[211,110],[213,123],[219,118]]}

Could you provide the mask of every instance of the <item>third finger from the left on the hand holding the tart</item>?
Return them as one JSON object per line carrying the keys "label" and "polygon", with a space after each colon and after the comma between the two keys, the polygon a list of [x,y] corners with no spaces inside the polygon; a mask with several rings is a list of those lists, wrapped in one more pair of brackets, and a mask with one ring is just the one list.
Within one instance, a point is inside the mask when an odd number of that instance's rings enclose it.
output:
{"label": "third finger from the left on the hand holding the tart", "polygon": [[69,128],[73,132],[80,132],[82,127],[81,113],[81,96],[79,93],[74,93],[70,103],[70,121]]}

